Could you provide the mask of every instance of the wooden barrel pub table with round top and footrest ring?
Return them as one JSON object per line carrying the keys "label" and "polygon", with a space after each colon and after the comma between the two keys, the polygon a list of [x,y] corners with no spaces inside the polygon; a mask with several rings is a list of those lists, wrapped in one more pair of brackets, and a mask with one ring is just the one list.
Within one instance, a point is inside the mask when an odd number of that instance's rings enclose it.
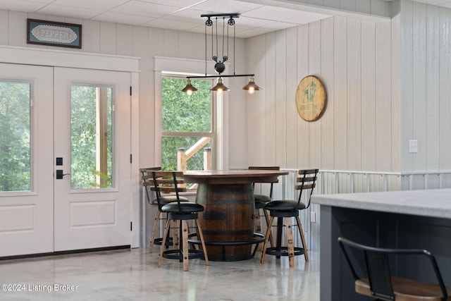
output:
{"label": "wooden barrel pub table with round top and footrest ring", "polygon": [[[202,204],[198,221],[202,226],[209,260],[238,261],[254,257],[264,242],[254,233],[255,200],[252,183],[271,183],[287,171],[235,170],[185,171],[187,183],[197,183],[196,202]],[[197,243],[190,240],[190,243]],[[252,250],[252,245],[255,245]]]}

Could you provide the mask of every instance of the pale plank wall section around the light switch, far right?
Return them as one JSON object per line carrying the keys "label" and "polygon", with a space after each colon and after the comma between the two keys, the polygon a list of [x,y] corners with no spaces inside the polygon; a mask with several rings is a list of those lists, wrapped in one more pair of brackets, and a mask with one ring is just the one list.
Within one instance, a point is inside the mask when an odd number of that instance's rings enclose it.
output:
{"label": "pale plank wall section around the light switch, far right", "polygon": [[401,11],[402,171],[450,171],[451,10],[403,0]]}

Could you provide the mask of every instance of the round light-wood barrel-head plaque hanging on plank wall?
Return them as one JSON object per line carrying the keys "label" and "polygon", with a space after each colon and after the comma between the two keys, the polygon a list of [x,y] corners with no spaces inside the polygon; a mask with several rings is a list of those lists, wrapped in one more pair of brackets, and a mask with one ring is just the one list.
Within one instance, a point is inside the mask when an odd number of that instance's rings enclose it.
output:
{"label": "round light-wood barrel-head plaque hanging on plank wall", "polygon": [[296,90],[297,113],[304,121],[316,121],[326,108],[326,90],[323,82],[308,75],[299,82]]}

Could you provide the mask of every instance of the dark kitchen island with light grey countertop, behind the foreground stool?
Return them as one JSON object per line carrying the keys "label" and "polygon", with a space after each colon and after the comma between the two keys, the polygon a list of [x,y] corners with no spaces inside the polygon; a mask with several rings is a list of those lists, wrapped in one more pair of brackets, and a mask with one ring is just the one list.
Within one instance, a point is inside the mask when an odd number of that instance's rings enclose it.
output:
{"label": "dark kitchen island with light grey countertop, behind the foreground stool", "polygon": [[[409,190],[313,195],[321,205],[321,301],[368,300],[354,293],[354,279],[337,239],[364,245],[419,248],[437,259],[445,285],[451,285],[451,190]],[[393,273],[435,281],[422,262],[400,259]]]}

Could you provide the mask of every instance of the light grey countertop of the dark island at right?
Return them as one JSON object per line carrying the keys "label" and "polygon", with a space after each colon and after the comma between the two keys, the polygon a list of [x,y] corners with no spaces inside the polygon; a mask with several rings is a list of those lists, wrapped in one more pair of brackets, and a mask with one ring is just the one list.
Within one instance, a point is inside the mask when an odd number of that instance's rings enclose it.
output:
{"label": "light grey countertop of the dark island at right", "polygon": [[451,219],[451,189],[312,195],[314,204]]}

